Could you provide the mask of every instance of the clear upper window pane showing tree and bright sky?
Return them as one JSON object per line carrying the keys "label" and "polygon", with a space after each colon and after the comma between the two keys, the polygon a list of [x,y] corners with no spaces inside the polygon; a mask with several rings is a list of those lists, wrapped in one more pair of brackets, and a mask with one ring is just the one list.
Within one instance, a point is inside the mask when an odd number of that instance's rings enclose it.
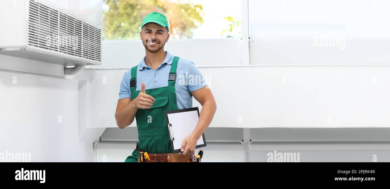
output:
{"label": "clear upper window pane showing tree and bright sky", "polygon": [[167,16],[170,39],[241,37],[241,0],[106,0],[103,39],[140,39],[150,12]]}

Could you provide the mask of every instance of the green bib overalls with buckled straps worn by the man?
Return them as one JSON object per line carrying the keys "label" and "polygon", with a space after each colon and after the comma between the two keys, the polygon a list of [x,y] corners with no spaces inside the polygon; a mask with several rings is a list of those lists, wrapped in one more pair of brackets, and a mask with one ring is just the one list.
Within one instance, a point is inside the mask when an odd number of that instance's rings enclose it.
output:
{"label": "green bib overalls with buckled straps worn by the man", "polygon": [[[149,154],[172,153],[170,137],[165,120],[165,111],[177,110],[176,104],[176,67],[179,57],[174,57],[168,76],[168,86],[145,90],[154,97],[153,105],[148,109],[138,109],[135,114],[138,129],[138,147]],[[131,98],[135,99],[140,91],[136,91],[137,65],[131,68]],[[125,162],[137,162],[138,150],[135,149]]]}

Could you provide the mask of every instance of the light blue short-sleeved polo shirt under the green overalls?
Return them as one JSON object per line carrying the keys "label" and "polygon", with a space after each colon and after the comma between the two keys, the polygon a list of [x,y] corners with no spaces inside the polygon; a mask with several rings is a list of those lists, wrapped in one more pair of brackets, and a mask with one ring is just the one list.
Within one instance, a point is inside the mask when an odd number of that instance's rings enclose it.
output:
{"label": "light blue short-sleeved polo shirt under the green overalls", "polygon": [[[145,83],[145,90],[168,86],[168,75],[174,56],[168,53],[168,51],[165,51],[165,53],[167,55],[156,71],[145,64],[145,57],[142,58],[137,67],[137,87],[135,90],[141,90],[141,82]],[[131,68],[124,72],[119,90],[119,99],[131,97],[130,79]],[[175,81],[177,108],[192,108],[190,91],[198,90],[206,85],[205,78],[200,73],[198,67],[191,60],[179,58]]]}

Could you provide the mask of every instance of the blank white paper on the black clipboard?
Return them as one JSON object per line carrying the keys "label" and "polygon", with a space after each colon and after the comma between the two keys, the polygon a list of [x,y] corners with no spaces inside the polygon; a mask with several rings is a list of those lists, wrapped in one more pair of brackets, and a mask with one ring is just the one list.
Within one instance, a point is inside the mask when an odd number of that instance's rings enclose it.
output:
{"label": "blank white paper on the black clipboard", "polygon": [[[173,141],[174,150],[180,149],[184,138],[190,135],[198,124],[198,111],[184,111],[179,113],[170,113],[167,115],[171,130],[175,138]],[[204,144],[203,137],[199,137],[197,145]]]}

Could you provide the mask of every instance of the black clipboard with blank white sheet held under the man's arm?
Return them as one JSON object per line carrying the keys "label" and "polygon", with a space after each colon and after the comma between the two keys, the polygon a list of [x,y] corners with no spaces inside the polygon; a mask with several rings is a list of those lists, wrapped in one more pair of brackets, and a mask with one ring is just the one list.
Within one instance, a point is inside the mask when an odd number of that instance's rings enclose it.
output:
{"label": "black clipboard with blank white sheet held under the man's arm", "polygon": [[[165,111],[165,119],[169,131],[173,153],[181,152],[184,138],[191,134],[199,121],[199,108],[185,108],[180,110]],[[205,147],[204,133],[199,137],[196,148]]]}

